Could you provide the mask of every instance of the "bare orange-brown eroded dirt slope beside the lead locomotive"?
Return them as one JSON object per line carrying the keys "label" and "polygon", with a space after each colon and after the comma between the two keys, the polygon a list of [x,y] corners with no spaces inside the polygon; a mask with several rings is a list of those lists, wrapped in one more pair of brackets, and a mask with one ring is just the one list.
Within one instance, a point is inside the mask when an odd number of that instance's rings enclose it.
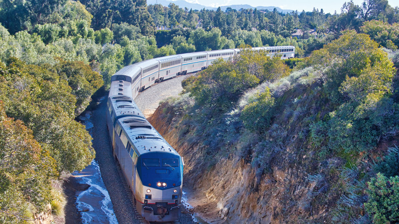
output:
{"label": "bare orange-brown eroded dirt slope beside the lead locomotive", "polygon": [[[317,183],[306,180],[301,164],[311,156],[289,149],[272,161],[261,176],[246,159],[234,154],[204,161],[202,144],[186,138],[183,111],[163,103],[148,120],[184,157],[184,183],[191,184],[197,203],[194,211],[211,223],[300,223],[323,219],[325,208],[312,205]],[[284,156],[287,159],[281,159]],[[298,160],[301,156],[301,162]],[[292,162],[297,161],[297,162]]]}

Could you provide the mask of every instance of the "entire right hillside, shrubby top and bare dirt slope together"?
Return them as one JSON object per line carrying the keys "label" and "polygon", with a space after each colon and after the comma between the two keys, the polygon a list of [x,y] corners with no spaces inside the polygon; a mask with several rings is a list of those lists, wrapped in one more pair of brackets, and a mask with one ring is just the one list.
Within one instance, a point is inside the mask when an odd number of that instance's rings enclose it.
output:
{"label": "entire right hillside, shrubby top and bare dirt slope together", "polygon": [[226,223],[392,223],[395,73],[378,43],[346,31],[293,71],[251,51],[218,61],[151,119]]}

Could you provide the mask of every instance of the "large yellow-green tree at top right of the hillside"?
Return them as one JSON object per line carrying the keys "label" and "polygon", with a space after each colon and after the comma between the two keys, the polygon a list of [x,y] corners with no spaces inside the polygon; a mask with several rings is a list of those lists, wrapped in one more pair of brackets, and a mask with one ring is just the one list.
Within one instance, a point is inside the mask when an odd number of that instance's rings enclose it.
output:
{"label": "large yellow-green tree at top right of the hillside", "polygon": [[311,63],[323,74],[324,92],[336,107],[312,127],[315,136],[326,128],[329,148],[367,152],[398,128],[399,113],[389,98],[393,63],[367,35],[347,31],[315,51]]}

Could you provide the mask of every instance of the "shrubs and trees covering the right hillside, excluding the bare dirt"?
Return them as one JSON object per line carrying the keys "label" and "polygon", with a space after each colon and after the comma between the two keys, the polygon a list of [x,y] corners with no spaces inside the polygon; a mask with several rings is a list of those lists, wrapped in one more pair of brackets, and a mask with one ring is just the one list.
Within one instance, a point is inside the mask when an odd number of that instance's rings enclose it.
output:
{"label": "shrubs and trees covering the right hillside, excluding the bare dirt", "polygon": [[[314,188],[300,203],[323,213],[317,221],[395,220],[396,177],[372,178],[398,174],[397,147],[384,148],[399,133],[396,71],[387,53],[352,30],[303,60],[262,57],[218,61],[183,82],[195,100],[195,113],[188,112],[181,130],[188,143],[201,142],[209,166],[214,158],[250,163],[256,179],[249,191],[275,169],[301,170],[299,180],[305,175]],[[289,186],[280,199],[296,199],[288,191],[299,186]],[[300,220],[310,221],[304,214]]]}

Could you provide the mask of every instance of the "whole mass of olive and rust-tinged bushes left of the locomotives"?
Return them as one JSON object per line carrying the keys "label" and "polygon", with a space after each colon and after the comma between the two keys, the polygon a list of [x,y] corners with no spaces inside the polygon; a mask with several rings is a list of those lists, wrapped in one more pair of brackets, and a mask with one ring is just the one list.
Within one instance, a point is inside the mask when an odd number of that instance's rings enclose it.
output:
{"label": "whole mass of olive and rust-tinged bushes left of the locomotives", "polygon": [[47,209],[59,172],[82,170],[94,159],[92,138],[74,118],[103,82],[81,63],[7,63],[0,64],[0,219],[15,223]]}

